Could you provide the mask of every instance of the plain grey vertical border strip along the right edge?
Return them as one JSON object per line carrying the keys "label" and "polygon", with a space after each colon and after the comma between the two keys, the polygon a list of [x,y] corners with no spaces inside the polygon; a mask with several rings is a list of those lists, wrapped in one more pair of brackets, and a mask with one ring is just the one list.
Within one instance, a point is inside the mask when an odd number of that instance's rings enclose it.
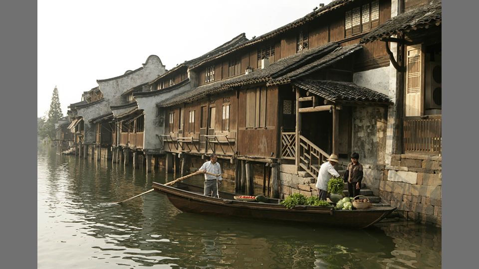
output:
{"label": "plain grey vertical border strip along the right edge", "polygon": [[[477,1],[443,1],[443,193],[442,264],[474,268],[478,264]],[[475,174],[475,173],[474,173]],[[469,206],[466,206],[469,205]],[[470,209],[470,210],[468,210]],[[474,219],[473,219],[474,218]]]}

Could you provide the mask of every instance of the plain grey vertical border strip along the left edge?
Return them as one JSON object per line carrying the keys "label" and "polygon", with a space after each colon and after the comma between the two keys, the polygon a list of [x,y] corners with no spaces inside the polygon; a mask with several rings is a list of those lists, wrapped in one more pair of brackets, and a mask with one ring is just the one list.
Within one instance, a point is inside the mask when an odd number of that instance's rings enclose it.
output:
{"label": "plain grey vertical border strip along the left edge", "polygon": [[1,135],[1,267],[36,268],[36,100],[32,98],[37,66],[36,4],[6,0],[0,5],[1,114],[8,127]]}

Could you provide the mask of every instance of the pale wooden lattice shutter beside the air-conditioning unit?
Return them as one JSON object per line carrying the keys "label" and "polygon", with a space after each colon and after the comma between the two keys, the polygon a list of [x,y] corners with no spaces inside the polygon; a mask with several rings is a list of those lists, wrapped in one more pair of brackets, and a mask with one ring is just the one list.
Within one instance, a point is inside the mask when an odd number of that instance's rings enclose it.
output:
{"label": "pale wooden lattice shutter beside the air-conditioning unit", "polygon": [[421,116],[424,97],[424,55],[422,45],[407,46],[406,117]]}

